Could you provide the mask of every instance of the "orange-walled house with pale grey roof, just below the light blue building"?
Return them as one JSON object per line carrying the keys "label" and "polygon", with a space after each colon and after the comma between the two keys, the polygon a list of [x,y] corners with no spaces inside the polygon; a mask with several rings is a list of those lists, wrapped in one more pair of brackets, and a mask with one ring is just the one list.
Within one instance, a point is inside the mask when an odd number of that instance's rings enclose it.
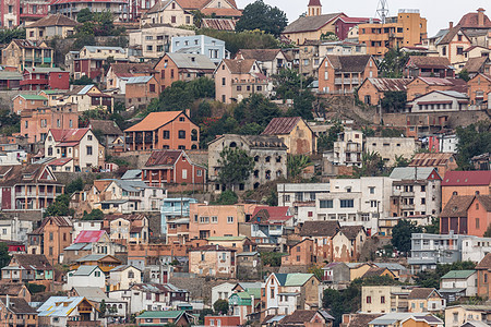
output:
{"label": "orange-walled house with pale grey roof, just below the light blue building", "polygon": [[212,77],[216,65],[205,55],[166,53],[154,66],[155,78],[160,92],[177,81],[193,81],[200,77]]}

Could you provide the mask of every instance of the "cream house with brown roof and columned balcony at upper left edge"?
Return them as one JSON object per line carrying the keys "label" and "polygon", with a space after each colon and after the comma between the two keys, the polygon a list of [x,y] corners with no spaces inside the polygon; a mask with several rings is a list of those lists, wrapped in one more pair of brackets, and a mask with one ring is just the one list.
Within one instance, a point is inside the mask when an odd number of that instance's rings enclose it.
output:
{"label": "cream house with brown roof and columned balcony at upper left edge", "polygon": [[2,50],[2,65],[22,73],[28,66],[53,66],[55,50],[43,40],[13,39]]}

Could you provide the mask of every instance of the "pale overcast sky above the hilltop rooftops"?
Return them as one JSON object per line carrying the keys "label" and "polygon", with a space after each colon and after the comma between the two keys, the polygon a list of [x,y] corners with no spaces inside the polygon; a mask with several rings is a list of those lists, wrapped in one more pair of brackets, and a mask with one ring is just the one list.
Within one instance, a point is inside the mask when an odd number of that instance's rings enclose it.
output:
{"label": "pale overcast sky above the hilltop rooftops", "polygon": [[[236,0],[237,5],[243,9],[255,0]],[[273,7],[286,12],[288,22],[294,22],[307,12],[309,0],[263,0]],[[489,0],[387,0],[390,15],[396,15],[399,9],[419,9],[421,16],[428,20],[428,34],[433,36],[441,28],[448,27],[448,22],[458,23],[460,17],[474,12],[478,8],[488,9],[491,16]],[[352,17],[375,17],[379,0],[321,0],[323,13],[344,12]],[[486,7],[488,3],[488,8]]]}

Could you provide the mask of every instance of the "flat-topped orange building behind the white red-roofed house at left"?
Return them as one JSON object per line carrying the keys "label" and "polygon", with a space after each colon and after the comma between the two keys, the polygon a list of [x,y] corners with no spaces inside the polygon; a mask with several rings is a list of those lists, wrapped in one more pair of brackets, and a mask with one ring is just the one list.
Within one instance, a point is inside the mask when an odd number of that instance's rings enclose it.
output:
{"label": "flat-topped orange building behind the white red-roofed house at left", "polygon": [[21,135],[29,143],[44,142],[51,129],[77,129],[79,112],[75,104],[39,107],[21,111]]}

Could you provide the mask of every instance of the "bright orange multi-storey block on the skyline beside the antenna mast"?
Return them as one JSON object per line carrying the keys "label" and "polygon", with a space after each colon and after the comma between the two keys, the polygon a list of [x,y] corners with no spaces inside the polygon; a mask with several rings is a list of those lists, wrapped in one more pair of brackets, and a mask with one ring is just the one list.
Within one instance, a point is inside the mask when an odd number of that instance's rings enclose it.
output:
{"label": "bright orange multi-storey block on the skyline beside the antenna mast", "polygon": [[414,47],[427,37],[427,19],[419,10],[399,10],[385,24],[358,25],[359,43],[367,45],[367,53],[383,57],[388,49]]}

